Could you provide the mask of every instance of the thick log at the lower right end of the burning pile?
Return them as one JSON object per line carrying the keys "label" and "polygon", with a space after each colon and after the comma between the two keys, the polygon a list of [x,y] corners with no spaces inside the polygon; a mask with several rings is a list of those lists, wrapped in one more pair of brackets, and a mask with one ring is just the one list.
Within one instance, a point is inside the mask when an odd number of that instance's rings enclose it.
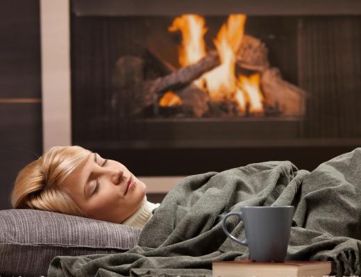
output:
{"label": "thick log at the lower right end of the burning pile", "polygon": [[278,106],[280,112],[285,116],[305,115],[305,99],[308,93],[283,80],[278,69],[265,70],[261,77],[261,86],[267,105]]}

